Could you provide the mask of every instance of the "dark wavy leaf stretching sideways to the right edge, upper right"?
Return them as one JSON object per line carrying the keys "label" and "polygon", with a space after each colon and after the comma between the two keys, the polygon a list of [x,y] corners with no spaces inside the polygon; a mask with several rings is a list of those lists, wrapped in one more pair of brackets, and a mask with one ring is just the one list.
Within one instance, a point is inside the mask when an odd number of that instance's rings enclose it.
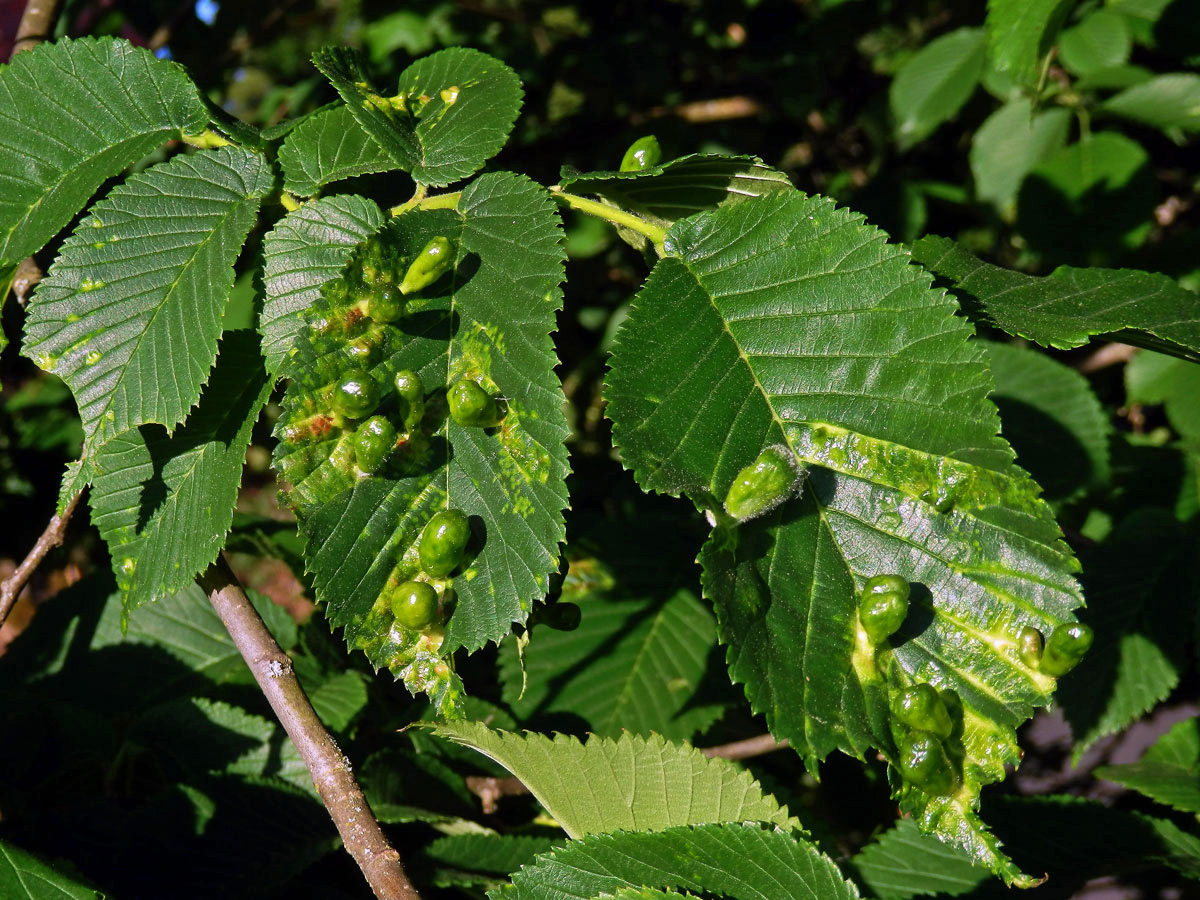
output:
{"label": "dark wavy leaf stretching sideways to the right edge, upper right", "polygon": [[1043,347],[1093,335],[1200,361],[1200,299],[1165,275],[1062,266],[1045,277],[984,263],[947,238],[913,244],[917,262],[948,280],[972,318]]}

